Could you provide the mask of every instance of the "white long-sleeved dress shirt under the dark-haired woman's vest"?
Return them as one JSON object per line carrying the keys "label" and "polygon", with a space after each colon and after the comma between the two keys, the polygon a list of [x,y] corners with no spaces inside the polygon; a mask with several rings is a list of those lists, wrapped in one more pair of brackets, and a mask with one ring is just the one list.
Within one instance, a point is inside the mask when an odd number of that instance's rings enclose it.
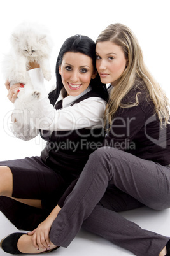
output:
{"label": "white long-sleeved dress shirt under the dark-haired woman's vest", "polygon": [[31,69],[28,71],[34,89],[41,92],[41,97],[38,99],[38,106],[32,111],[31,118],[35,120],[35,127],[22,127],[14,122],[15,113],[13,113],[11,120],[11,131],[17,138],[29,140],[38,135],[40,130],[48,131],[70,131],[74,129],[97,129],[103,127],[103,116],[106,108],[106,101],[99,97],[89,97],[80,103],[73,106],[71,104],[83,96],[91,89],[88,87],[84,92],[78,96],[67,96],[63,99],[60,93],[59,98],[63,100],[62,109],[55,110],[48,94],[45,90],[44,79],[41,73],[41,68]]}

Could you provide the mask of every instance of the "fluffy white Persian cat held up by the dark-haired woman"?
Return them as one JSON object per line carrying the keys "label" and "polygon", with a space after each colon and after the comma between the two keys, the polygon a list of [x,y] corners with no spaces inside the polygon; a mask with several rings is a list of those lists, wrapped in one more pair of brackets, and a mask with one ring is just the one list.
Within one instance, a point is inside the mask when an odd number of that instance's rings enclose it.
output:
{"label": "fluffy white Persian cat held up by the dark-haired woman", "polygon": [[10,82],[10,86],[15,83],[24,83],[25,85],[20,89],[14,104],[14,110],[20,110],[20,113],[23,113],[20,118],[17,115],[17,122],[22,125],[29,122],[29,120],[25,120],[25,110],[36,108],[38,99],[41,97],[41,90],[34,88],[27,74],[29,62],[40,64],[44,78],[50,80],[49,58],[52,51],[52,39],[43,25],[22,23],[11,34],[10,42],[11,51],[4,55],[1,64],[4,78]]}

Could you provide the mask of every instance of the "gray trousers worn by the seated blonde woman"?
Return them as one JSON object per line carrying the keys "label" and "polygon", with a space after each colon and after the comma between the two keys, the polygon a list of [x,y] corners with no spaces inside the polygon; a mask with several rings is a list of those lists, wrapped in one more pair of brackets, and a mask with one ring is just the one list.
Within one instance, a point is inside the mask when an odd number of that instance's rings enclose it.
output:
{"label": "gray trousers worn by the seated blonde woman", "polygon": [[[127,201],[124,196],[120,201],[115,197],[115,187],[122,191]],[[83,225],[134,255],[158,256],[170,238],[141,229],[117,213],[114,204],[118,210],[143,204],[157,210],[169,208],[170,167],[115,148],[99,148],[90,155],[76,186],[52,224],[52,243],[67,247]]]}

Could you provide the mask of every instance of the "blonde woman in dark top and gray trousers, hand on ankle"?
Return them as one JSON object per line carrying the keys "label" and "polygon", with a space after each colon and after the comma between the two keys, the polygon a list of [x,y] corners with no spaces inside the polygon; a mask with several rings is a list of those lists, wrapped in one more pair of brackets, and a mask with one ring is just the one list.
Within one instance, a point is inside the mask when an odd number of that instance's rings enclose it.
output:
{"label": "blonde woman in dark top and gray trousers, hand on ankle", "polygon": [[170,207],[167,97],[146,69],[138,41],[125,25],[109,25],[101,32],[96,55],[101,82],[110,83],[103,147],[90,155],[73,191],[69,188],[60,207],[52,211],[49,236],[48,218],[31,236],[21,236],[18,246],[26,252],[24,242],[26,247],[33,241],[41,252],[50,239],[52,248],[67,247],[83,225],[134,255],[170,255],[170,238],[143,230],[118,213],[143,205]]}

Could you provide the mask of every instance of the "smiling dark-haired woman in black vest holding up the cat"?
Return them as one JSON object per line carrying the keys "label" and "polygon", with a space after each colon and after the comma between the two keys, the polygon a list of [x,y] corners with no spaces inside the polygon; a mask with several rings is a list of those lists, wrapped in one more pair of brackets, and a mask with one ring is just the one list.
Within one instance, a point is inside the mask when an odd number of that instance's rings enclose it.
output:
{"label": "smiling dark-haired woman in black vest holding up the cat", "polygon": [[[57,58],[57,87],[33,110],[36,129],[19,127],[13,113],[13,133],[29,140],[40,132],[46,146],[40,157],[0,162],[0,210],[18,227],[32,230],[57,205],[69,184],[78,178],[87,159],[104,139],[103,115],[108,93],[96,71],[95,43],[72,36]],[[41,86],[41,68],[31,64],[32,83]],[[15,102],[20,84],[9,86]]]}

